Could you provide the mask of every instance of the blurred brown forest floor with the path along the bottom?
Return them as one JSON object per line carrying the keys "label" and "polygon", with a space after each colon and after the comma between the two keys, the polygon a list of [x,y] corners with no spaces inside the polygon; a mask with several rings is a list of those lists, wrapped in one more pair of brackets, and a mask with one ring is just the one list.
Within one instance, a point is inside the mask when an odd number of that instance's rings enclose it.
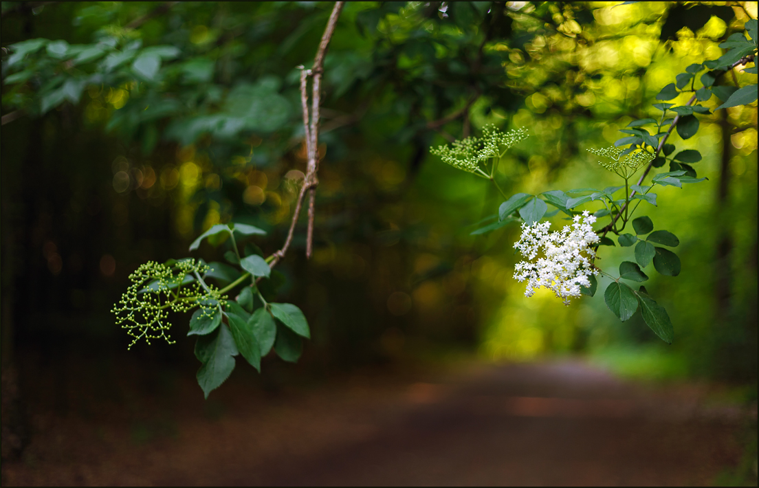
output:
{"label": "blurred brown forest floor with the path along the bottom", "polygon": [[[739,464],[756,421],[714,386],[630,383],[579,360],[276,389],[235,373],[208,401],[184,373],[66,367],[68,386],[55,367],[34,376],[30,445],[2,464],[3,486],[703,486]],[[109,380],[135,376],[140,388]]]}

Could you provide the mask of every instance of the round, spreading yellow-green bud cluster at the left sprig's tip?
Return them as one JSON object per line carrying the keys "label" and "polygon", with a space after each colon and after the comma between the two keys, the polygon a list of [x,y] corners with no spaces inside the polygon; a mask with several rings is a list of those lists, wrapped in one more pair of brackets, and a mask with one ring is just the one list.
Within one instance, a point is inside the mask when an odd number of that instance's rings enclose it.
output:
{"label": "round, spreading yellow-green bud cluster at the left sprig's tip", "polygon": [[187,312],[200,305],[203,314],[210,316],[213,309],[223,306],[225,297],[200,278],[209,269],[203,261],[193,259],[170,260],[167,264],[149,261],[129,275],[132,285],[111,310],[116,323],[134,337],[129,348],[140,338],[148,344],[157,338],[174,344],[167,335],[172,326],[167,320],[169,310]]}

